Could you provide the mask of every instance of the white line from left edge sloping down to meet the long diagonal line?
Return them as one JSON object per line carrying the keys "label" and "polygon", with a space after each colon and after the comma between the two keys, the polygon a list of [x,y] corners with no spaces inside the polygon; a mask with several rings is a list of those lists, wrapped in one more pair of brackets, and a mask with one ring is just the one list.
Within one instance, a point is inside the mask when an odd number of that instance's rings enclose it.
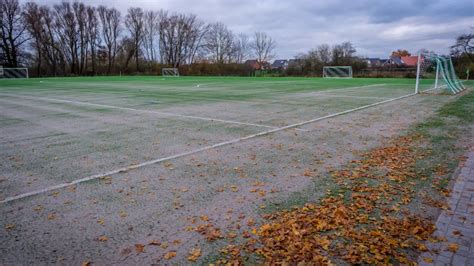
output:
{"label": "white line from left edge sloping down to meet the long diagonal line", "polygon": [[[159,115],[164,115],[164,116],[174,116],[174,117],[181,117],[181,118],[188,118],[188,119],[205,120],[205,121],[211,121],[211,122],[220,122],[220,123],[226,123],[226,124],[236,124],[236,125],[253,126],[253,127],[264,127],[264,128],[272,128],[272,129],[278,128],[278,127],[275,127],[275,126],[267,126],[267,125],[262,125],[262,124],[246,123],[246,122],[224,120],[224,119],[217,119],[217,118],[209,118],[209,117],[201,117],[201,116],[193,116],[193,115],[182,115],[182,114],[167,113],[167,112],[160,112],[160,111],[153,111],[153,110],[142,110],[142,109],[135,109],[135,108],[130,108],[130,107],[121,107],[121,106],[98,104],[98,103],[88,103],[88,102],[81,102],[81,101],[72,101],[72,100],[49,98],[49,97],[33,97],[33,96],[13,95],[13,94],[0,94],[0,95],[6,95],[6,96],[18,97],[18,98],[26,98],[26,99],[32,99],[32,100],[46,100],[46,101],[53,101],[53,102],[70,103],[70,104],[75,104],[75,105],[88,105],[88,106],[103,107],[103,108],[109,108],[109,109],[133,111],[133,112],[138,112],[138,113],[159,114]],[[296,130],[307,131],[307,130],[298,129],[298,128]]]}

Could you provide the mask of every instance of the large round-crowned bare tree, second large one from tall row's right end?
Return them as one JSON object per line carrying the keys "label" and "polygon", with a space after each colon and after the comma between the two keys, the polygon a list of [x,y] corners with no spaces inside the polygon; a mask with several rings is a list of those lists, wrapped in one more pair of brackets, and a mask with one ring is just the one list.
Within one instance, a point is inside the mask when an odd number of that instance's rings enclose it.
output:
{"label": "large round-crowned bare tree, second large one from tall row's right end", "polygon": [[204,46],[213,62],[223,64],[231,60],[235,48],[234,34],[224,24],[210,24],[205,39]]}

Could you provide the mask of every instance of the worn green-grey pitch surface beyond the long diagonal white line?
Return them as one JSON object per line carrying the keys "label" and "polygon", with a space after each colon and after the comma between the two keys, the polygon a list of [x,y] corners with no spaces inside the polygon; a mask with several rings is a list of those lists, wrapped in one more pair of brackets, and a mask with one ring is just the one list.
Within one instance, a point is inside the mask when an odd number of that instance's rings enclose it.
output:
{"label": "worn green-grey pitch surface beyond the long diagonal white line", "polygon": [[[397,79],[117,77],[1,84],[2,157],[18,156],[10,153],[18,145],[34,151],[20,155],[28,165],[11,169],[2,199],[288,126],[309,131],[298,124],[414,90],[412,80]],[[40,178],[33,182],[29,175]]]}

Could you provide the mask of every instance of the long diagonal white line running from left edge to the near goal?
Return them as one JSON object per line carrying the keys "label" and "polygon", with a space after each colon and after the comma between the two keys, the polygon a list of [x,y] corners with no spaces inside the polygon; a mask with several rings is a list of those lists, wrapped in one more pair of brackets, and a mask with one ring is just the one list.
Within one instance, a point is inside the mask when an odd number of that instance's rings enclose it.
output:
{"label": "long diagonal white line running from left edge to the near goal", "polygon": [[164,161],[168,161],[168,160],[172,160],[172,159],[177,159],[177,158],[193,155],[193,154],[196,154],[196,153],[199,153],[199,152],[219,148],[219,147],[222,147],[222,146],[235,144],[235,143],[242,142],[242,141],[245,141],[245,140],[249,140],[249,139],[265,136],[265,135],[268,135],[268,134],[272,134],[272,133],[275,133],[275,132],[278,132],[278,131],[291,129],[291,128],[295,128],[295,127],[300,127],[300,126],[303,126],[303,125],[311,124],[311,123],[318,122],[318,121],[321,121],[321,120],[325,120],[325,119],[328,119],[328,118],[332,118],[332,117],[336,117],[336,116],[340,116],[340,115],[345,115],[345,114],[348,114],[348,113],[352,113],[352,112],[355,112],[355,111],[367,109],[367,108],[374,107],[374,106],[377,106],[377,105],[382,105],[382,104],[385,104],[385,103],[401,100],[401,99],[408,98],[408,97],[411,97],[411,96],[414,96],[414,95],[416,95],[416,93],[407,94],[407,95],[400,96],[400,97],[397,97],[397,98],[392,98],[392,99],[388,99],[388,100],[385,100],[385,101],[364,105],[364,106],[361,106],[361,107],[349,109],[349,110],[334,113],[334,114],[329,114],[329,115],[326,115],[326,116],[318,117],[318,118],[315,118],[315,119],[303,121],[303,122],[300,122],[300,123],[296,123],[296,124],[292,124],[292,125],[288,125],[288,126],[284,126],[284,127],[270,129],[270,130],[263,131],[263,132],[260,132],[260,133],[257,133],[257,134],[252,134],[252,135],[248,135],[248,136],[245,136],[245,137],[220,142],[220,143],[217,143],[217,144],[214,144],[214,145],[211,145],[211,146],[202,147],[200,149],[179,153],[179,154],[175,154],[175,155],[164,157],[164,158],[158,158],[158,159],[151,160],[151,161],[146,161],[146,162],[143,162],[143,163],[140,163],[140,164],[135,164],[135,165],[122,167],[122,168],[112,170],[112,171],[109,171],[109,172],[106,172],[106,173],[101,173],[101,174],[97,174],[97,175],[84,177],[84,178],[77,179],[77,180],[74,180],[74,181],[71,181],[71,182],[62,183],[62,184],[58,184],[58,185],[55,185],[55,186],[51,186],[51,187],[47,187],[47,188],[43,188],[43,189],[39,189],[39,190],[27,192],[27,193],[23,193],[23,194],[20,194],[20,195],[17,195],[17,196],[7,197],[3,200],[0,200],[0,204],[4,204],[4,203],[12,202],[12,201],[15,201],[15,200],[31,197],[31,196],[34,196],[34,195],[46,193],[46,192],[56,190],[56,189],[60,189],[60,188],[73,186],[73,185],[76,185],[76,184],[80,184],[80,183],[87,182],[87,181],[94,180],[94,179],[98,179],[98,178],[103,178],[103,177],[118,174],[118,173],[121,173],[121,172],[127,172],[127,171],[130,171],[130,170],[145,167],[145,166],[148,166],[148,165],[157,164],[157,163],[161,163],[161,162],[164,162]]}

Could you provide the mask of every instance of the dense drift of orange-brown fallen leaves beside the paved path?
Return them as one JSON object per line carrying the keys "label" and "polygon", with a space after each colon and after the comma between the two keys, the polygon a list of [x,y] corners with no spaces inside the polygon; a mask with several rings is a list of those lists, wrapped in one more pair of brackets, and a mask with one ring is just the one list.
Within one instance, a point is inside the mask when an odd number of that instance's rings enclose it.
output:
{"label": "dense drift of orange-brown fallen leaves beside the paved path", "polygon": [[[227,259],[219,262],[242,262],[245,252],[270,264],[331,264],[331,258],[351,264],[413,263],[409,254],[427,251],[425,241],[440,241],[432,237],[435,226],[407,208],[416,185],[426,180],[415,171],[417,160],[426,156],[414,148],[422,141],[419,136],[400,137],[362,154],[332,173],[338,191],[329,191],[319,204],[265,215],[265,223],[252,230],[245,244],[221,250]],[[221,235],[216,230],[207,225],[196,231],[213,240]],[[448,250],[455,252],[456,245]]]}

